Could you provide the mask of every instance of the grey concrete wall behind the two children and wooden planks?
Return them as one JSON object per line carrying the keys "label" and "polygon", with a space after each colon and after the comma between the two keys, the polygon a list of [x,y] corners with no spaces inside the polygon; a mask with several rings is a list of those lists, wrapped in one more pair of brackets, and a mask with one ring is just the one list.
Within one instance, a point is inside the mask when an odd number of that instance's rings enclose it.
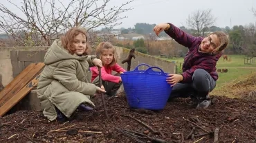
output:
{"label": "grey concrete wall behind the two children and wooden planks", "polygon": [[[0,75],[2,85],[5,87],[15,78],[20,72],[22,72],[30,63],[44,62],[44,55],[48,47],[0,47]],[[116,47],[118,53],[118,64],[124,69],[127,69],[127,63],[121,62],[129,55],[129,50]],[[141,63],[146,63],[150,66],[160,67],[167,73],[175,73],[175,64],[170,61],[162,60],[154,56],[147,54],[135,53],[136,58],[131,60],[131,70]],[[142,66],[140,69],[146,69]],[[0,84],[1,85],[1,84]],[[122,91],[123,87],[120,88]],[[40,103],[37,98],[36,91],[31,91],[24,99],[13,107],[14,111],[30,109],[39,110]]]}

